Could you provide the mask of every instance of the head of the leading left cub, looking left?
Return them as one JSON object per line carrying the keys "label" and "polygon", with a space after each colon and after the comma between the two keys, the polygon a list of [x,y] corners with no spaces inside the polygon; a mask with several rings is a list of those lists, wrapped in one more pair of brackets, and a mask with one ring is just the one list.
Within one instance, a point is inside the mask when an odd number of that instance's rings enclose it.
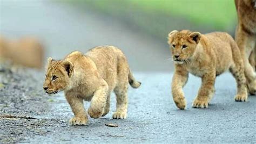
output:
{"label": "head of the leading left cub, looking left", "polygon": [[68,88],[72,74],[73,64],[70,61],[55,61],[49,57],[43,86],[45,92],[56,94],[65,90]]}

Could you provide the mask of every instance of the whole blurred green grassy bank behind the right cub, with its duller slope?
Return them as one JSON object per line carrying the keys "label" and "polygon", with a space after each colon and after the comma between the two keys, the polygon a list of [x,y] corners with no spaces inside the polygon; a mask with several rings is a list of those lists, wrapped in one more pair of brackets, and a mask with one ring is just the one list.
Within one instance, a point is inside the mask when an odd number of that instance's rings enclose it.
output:
{"label": "whole blurred green grassy bank behind the right cub, with its duller slope", "polygon": [[[129,24],[138,30],[166,40],[171,30],[189,29],[234,34],[237,13],[233,0],[75,0]],[[72,1],[74,3],[74,1]]]}

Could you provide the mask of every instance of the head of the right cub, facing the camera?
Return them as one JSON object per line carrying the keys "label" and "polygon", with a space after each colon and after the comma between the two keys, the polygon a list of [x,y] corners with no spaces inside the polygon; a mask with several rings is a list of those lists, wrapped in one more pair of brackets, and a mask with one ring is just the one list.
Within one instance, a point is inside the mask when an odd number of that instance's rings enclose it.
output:
{"label": "head of the right cub, facing the camera", "polygon": [[193,56],[200,38],[201,34],[199,32],[187,30],[170,32],[168,44],[170,45],[174,63],[183,64],[189,60]]}

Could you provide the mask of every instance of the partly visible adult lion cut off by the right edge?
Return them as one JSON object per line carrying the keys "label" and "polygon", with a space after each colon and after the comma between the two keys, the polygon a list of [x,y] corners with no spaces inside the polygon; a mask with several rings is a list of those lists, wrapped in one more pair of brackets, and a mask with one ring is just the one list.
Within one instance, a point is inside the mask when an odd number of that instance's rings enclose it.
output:
{"label": "partly visible adult lion cut off by the right edge", "polygon": [[[248,92],[256,94],[255,64],[253,64],[253,49],[256,43],[256,8],[254,0],[235,0],[237,8],[238,25],[235,32],[235,41],[242,55],[245,66],[245,77]],[[254,59],[255,60],[255,59]],[[249,63],[251,62],[251,64]]]}

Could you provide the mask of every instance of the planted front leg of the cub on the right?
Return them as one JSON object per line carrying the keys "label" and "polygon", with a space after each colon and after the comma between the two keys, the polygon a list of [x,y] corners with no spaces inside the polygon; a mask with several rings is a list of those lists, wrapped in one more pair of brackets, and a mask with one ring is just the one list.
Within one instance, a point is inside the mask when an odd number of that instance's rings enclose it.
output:
{"label": "planted front leg of the cub on the right", "polygon": [[197,108],[208,107],[208,103],[210,102],[215,92],[215,89],[214,89],[214,83],[216,78],[215,70],[211,72],[212,73],[205,74],[202,77],[202,84],[196,99],[194,99],[193,107],[197,107]]}

